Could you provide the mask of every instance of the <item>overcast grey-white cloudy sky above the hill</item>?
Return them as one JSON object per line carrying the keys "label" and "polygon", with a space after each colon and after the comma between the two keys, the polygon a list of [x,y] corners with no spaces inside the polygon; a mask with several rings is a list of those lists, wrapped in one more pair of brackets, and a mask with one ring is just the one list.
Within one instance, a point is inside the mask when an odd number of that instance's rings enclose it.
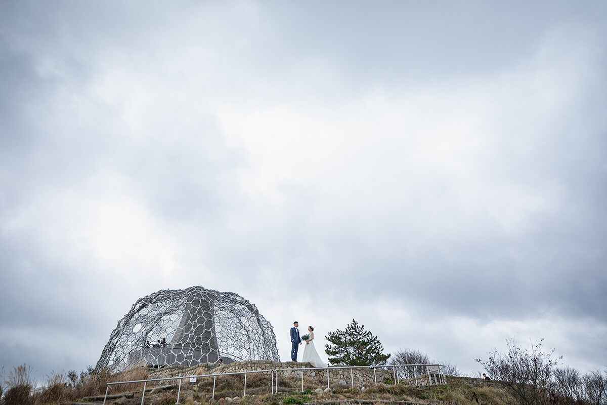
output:
{"label": "overcast grey-white cloudy sky above the hill", "polygon": [[202,285],[385,351],[607,367],[604,1],[1,1],[0,366]]}

